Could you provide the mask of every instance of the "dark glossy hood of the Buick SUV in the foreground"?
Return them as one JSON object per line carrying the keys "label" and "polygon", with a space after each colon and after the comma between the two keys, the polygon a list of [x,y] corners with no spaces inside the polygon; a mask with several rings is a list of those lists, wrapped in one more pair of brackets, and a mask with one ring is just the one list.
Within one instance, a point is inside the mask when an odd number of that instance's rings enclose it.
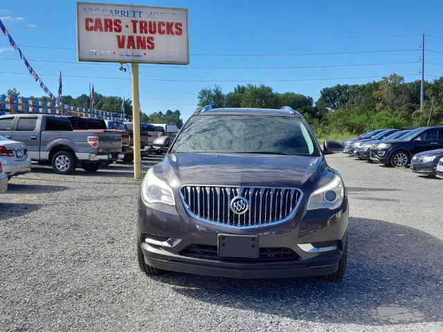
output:
{"label": "dark glossy hood of the Buick SUV in the foreground", "polygon": [[168,154],[154,174],[171,187],[181,185],[275,186],[312,189],[336,172],[323,157]]}

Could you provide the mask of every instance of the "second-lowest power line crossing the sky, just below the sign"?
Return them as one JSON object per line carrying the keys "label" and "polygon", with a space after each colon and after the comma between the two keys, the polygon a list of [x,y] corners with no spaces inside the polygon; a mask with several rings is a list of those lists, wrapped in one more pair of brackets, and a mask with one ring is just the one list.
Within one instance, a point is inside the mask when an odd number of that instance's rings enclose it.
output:
{"label": "second-lowest power line crossing the sky, just below the sign", "polygon": [[[21,59],[12,57],[0,57],[3,60],[10,61],[21,61]],[[50,64],[87,64],[95,66],[119,66],[118,64],[96,64],[93,62],[71,62],[71,61],[55,61],[55,60],[39,60],[39,59],[29,59],[32,62],[44,62]],[[192,67],[192,66],[143,66],[143,68],[179,68],[179,69],[302,69],[302,68],[334,68],[334,67],[359,67],[359,66],[385,66],[392,64],[417,64],[419,61],[411,62],[379,62],[373,64],[331,64],[323,66],[278,66],[278,67]]]}

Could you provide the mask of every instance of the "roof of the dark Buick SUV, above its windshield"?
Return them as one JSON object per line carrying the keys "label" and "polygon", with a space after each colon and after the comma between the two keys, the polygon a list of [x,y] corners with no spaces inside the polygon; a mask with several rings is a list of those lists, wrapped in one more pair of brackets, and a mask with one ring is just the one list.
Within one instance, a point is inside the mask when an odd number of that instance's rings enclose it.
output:
{"label": "roof of the dark Buick SUV, above its windshield", "polygon": [[287,116],[293,118],[302,118],[298,111],[290,107],[282,109],[253,109],[253,108],[211,108],[196,111],[194,115],[198,116]]}

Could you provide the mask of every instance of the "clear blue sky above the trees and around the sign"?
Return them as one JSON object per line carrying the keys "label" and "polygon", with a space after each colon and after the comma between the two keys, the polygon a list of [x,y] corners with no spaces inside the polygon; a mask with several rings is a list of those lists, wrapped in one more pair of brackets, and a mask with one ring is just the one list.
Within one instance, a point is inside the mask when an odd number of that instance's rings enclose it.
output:
{"label": "clear blue sky above the trees and around the sign", "polygon": [[[361,84],[394,72],[405,75],[406,81],[417,80],[422,33],[426,35],[426,80],[440,77],[443,71],[443,1],[132,3],[189,8],[190,65],[141,65],[145,113],[179,109],[186,119],[195,110],[198,91],[215,84],[227,93],[237,84],[263,82],[275,91],[293,91],[316,100],[325,86]],[[64,94],[89,93],[91,83],[104,95],[131,95],[129,73],[118,71],[118,64],[77,63],[75,1],[2,0],[0,17],[53,93],[62,71]],[[395,52],[331,54],[374,50]],[[44,95],[17,59],[18,53],[0,36],[0,93],[16,87],[21,95]],[[360,64],[371,65],[344,66]]]}

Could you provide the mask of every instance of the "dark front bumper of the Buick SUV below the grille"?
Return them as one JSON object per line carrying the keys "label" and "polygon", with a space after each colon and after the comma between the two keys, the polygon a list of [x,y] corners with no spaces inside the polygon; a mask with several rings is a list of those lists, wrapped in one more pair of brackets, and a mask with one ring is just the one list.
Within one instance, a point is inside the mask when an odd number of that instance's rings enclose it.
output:
{"label": "dark front bumper of the Buick SUV below the grille", "polygon": [[[138,239],[145,263],[155,268],[183,273],[234,278],[307,277],[334,273],[347,237],[347,199],[334,211],[305,211],[302,201],[293,219],[261,228],[235,229],[192,219],[181,201],[176,207],[159,203],[138,204]],[[145,234],[179,239],[174,246],[144,241]],[[287,248],[295,258],[287,260],[242,259],[226,257],[190,257],[190,246],[217,246],[218,234],[257,235],[260,248]],[[331,252],[306,252],[301,243],[337,241]],[[159,244],[159,243],[157,243]]]}

